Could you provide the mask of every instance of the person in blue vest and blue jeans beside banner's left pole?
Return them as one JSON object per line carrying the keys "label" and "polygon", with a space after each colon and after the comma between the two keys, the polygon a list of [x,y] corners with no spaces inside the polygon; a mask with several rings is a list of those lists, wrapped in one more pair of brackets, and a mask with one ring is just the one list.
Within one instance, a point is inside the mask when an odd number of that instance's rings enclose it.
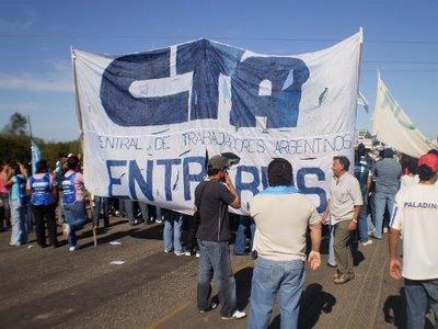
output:
{"label": "person in blue vest and blue jeans beside banner's left pole", "polygon": [[87,223],[83,175],[79,170],[78,157],[70,156],[62,181],[62,212],[66,218],[62,231],[68,239],[69,251],[77,249],[76,231]]}

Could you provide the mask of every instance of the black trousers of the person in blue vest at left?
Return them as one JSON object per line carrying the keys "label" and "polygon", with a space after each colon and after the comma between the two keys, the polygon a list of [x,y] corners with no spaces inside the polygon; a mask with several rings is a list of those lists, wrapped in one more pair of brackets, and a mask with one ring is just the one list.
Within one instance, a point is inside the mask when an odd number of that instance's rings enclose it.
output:
{"label": "black trousers of the person in blue vest at left", "polygon": [[32,212],[35,220],[36,242],[39,247],[46,247],[46,225],[48,231],[49,245],[56,247],[58,245],[56,235],[56,215],[55,204],[49,205],[32,205]]}

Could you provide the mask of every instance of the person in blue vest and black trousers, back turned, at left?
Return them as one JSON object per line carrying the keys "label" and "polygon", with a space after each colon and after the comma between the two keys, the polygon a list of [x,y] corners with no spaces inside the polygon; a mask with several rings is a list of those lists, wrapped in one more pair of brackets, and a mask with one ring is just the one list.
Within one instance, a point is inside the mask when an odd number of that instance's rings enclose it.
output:
{"label": "person in blue vest and black trousers, back turned, at left", "polygon": [[39,247],[47,247],[46,224],[50,246],[58,247],[56,237],[56,203],[58,191],[53,175],[48,172],[47,161],[35,163],[35,173],[27,181],[27,191],[32,193],[31,204],[35,220],[36,241]]}

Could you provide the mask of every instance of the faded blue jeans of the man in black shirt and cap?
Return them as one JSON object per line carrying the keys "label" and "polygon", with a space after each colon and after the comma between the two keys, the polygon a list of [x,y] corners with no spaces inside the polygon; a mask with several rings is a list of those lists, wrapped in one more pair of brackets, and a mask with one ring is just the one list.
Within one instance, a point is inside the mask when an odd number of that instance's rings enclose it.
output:
{"label": "faded blue jeans of the man in black shirt and cap", "polygon": [[197,307],[207,310],[211,305],[211,280],[215,275],[218,285],[220,315],[229,317],[235,310],[235,280],[231,270],[228,241],[215,242],[198,240],[199,280]]}

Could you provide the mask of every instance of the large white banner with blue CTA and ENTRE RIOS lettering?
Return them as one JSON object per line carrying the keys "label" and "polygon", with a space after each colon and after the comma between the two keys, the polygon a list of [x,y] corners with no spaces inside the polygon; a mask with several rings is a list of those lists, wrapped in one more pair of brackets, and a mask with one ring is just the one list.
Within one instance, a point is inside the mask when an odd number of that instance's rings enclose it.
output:
{"label": "large white banner with blue CTA and ENTRE RIOS lettering", "polygon": [[73,49],[87,189],[191,214],[206,155],[230,151],[240,214],[276,157],[323,211],[333,156],[353,161],[361,42],[297,56],[210,39],[117,57]]}

